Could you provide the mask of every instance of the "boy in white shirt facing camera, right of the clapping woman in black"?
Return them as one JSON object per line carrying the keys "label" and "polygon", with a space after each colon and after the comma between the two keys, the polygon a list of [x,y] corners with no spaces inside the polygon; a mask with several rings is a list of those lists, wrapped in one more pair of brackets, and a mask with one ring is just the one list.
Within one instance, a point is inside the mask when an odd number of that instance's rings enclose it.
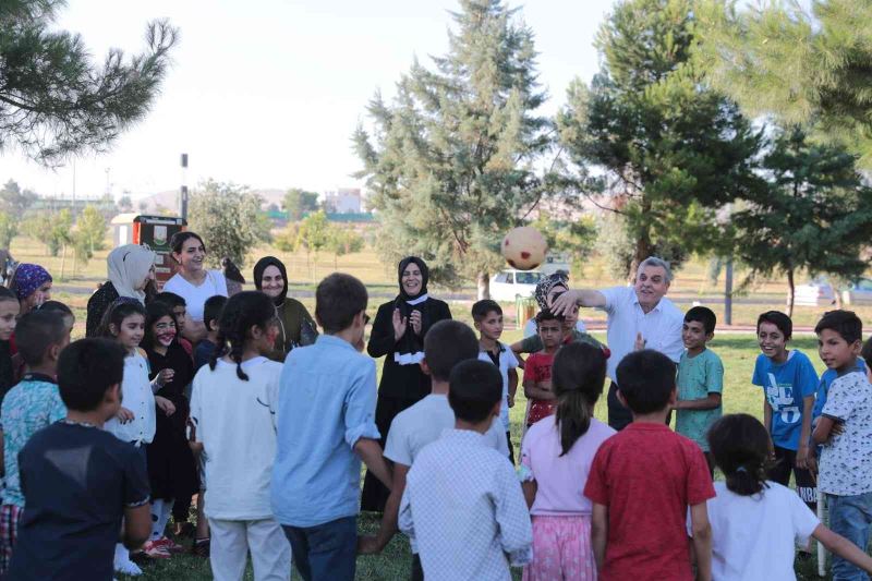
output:
{"label": "boy in white shirt facing camera, right of the clapping woman in black", "polygon": [[502,376],[502,403],[499,408],[499,421],[506,429],[506,443],[509,446],[509,460],[514,464],[514,449],[511,445],[509,425],[509,408],[514,407],[514,394],[518,391],[518,358],[511,349],[499,342],[502,335],[502,308],[499,303],[485,299],[472,305],[472,319],[479,331],[479,360],[493,363]]}

